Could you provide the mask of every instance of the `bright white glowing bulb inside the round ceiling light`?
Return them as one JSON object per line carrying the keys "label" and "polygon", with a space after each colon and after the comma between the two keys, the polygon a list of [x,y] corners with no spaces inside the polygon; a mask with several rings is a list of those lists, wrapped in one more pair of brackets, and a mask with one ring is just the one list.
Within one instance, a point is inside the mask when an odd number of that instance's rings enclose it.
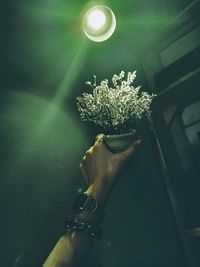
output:
{"label": "bright white glowing bulb inside the round ceiling light", "polygon": [[106,22],[106,16],[101,10],[92,10],[88,14],[88,24],[95,30],[101,29]]}

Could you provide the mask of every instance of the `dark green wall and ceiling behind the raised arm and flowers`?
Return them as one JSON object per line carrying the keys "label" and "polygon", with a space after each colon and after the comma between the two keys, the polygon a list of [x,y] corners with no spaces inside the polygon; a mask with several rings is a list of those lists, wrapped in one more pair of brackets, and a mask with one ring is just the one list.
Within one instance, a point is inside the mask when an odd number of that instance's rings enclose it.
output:
{"label": "dark green wall and ceiling behind the raised arm and flowers", "polygon": [[[81,30],[87,1],[1,2],[2,267],[41,266],[84,187],[79,162],[98,132],[76,110],[84,82],[136,69],[136,83],[159,93],[156,74],[199,46],[199,1],[103,4],[117,29],[92,43]],[[146,121],[140,128],[141,150],[112,194],[91,266],[187,266],[154,138]]]}

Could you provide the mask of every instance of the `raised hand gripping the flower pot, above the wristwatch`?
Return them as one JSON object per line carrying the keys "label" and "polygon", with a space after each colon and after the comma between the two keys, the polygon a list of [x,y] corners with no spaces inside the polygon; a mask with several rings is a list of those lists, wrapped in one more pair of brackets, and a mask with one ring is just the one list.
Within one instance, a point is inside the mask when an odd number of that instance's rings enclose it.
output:
{"label": "raised hand gripping the flower pot, above the wristwatch", "polygon": [[124,162],[136,153],[141,141],[137,140],[125,151],[114,154],[107,149],[102,137],[100,135],[95,144],[86,151],[80,169],[88,184],[86,192],[104,205]]}

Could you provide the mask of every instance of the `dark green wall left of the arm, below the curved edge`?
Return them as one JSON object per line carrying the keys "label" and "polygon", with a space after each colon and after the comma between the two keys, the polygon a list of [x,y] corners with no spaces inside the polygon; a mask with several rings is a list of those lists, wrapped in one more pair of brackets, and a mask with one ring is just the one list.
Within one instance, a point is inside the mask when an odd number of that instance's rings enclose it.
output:
{"label": "dark green wall left of the arm, below the curved edge", "polygon": [[28,93],[2,91],[0,116],[0,264],[21,255],[19,266],[41,266],[83,185],[89,144],[70,111]]}

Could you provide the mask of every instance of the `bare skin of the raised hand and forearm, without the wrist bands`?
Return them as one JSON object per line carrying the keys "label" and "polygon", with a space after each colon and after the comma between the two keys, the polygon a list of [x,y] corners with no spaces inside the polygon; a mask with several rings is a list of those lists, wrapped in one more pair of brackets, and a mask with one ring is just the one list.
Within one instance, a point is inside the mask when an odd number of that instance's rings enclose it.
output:
{"label": "bare skin of the raised hand and forearm, without the wrist bands", "polygon": [[[80,169],[87,183],[86,193],[105,207],[111,191],[118,181],[118,174],[126,160],[133,156],[140,140],[135,141],[127,150],[112,153],[103,143],[103,135],[98,136],[95,144],[86,151]],[[77,218],[98,223],[95,215],[82,212]],[[68,232],[53,248],[43,267],[83,267],[89,254],[93,239],[85,232]]]}

